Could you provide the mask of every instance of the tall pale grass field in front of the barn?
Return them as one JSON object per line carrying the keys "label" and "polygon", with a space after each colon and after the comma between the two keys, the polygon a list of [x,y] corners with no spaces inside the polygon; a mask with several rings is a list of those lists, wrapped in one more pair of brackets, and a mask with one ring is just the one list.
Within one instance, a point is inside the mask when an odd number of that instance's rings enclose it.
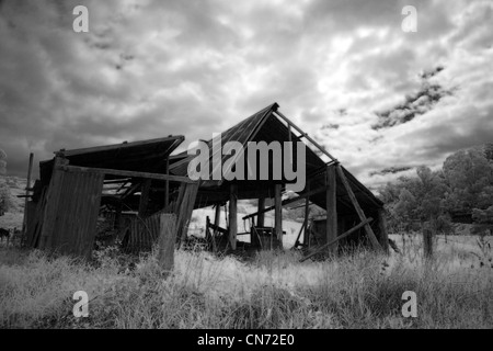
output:
{"label": "tall pale grass field in front of the barn", "polygon": [[[176,251],[168,279],[151,253],[106,249],[89,264],[3,247],[0,328],[493,328],[491,250],[437,238],[436,259],[424,262],[421,238],[404,239],[403,254],[303,263],[294,251],[248,262]],[[72,315],[81,290],[87,318]],[[402,316],[405,291],[417,295],[416,318]]]}

